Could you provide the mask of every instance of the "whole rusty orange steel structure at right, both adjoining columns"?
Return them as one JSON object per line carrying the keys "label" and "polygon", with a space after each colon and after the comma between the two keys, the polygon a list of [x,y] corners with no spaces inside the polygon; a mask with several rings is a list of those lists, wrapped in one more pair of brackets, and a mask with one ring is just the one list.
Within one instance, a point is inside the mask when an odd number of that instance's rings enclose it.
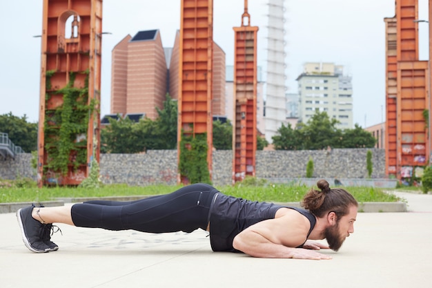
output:
{"label": "whole rusty orange steel structure at right, both adjoining columns", "polygon": [[396,2],[386,18],[386,174],[416,177],[430,155],[429,63],[419,61],[418,1]]}

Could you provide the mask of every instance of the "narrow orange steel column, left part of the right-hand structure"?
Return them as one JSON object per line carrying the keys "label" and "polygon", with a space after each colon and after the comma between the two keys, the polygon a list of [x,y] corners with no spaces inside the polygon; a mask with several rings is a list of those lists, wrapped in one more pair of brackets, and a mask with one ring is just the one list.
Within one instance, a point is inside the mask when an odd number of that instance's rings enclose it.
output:
{"label": "narrow orange steel column, left part of the right-hand structure", "polygon": [[386,22],[386,175],[397,176],[397,50],[396,18]]}

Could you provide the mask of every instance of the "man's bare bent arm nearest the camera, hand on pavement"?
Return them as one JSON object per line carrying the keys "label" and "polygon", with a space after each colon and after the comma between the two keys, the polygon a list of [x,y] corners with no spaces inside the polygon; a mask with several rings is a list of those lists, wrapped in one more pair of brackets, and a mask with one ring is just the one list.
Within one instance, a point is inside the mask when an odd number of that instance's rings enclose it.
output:
{"label": "man's bare bent arm nearest the camera, hand on pavement", "polygon": [[306,240],[310,225],[305,227],[305,223],[300,214],[264,220],[235,236],[233,247],[261,258],[331,259],[314,250],[295,248]]}

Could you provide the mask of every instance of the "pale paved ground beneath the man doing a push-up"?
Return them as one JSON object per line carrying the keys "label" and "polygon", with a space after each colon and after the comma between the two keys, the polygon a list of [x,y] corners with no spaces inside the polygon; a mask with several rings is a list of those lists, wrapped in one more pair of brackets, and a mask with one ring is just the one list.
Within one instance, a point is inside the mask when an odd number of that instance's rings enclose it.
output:
{"label": "pale paved ground beneath the man doing a push-up", "polygon": [[61,224],[60,250],[24,247],[0,214],[0,287],[432,287],[432,195],[397,193],[407,213],[359,213],[333,260],[214,253],[206,232],[147,234]]}

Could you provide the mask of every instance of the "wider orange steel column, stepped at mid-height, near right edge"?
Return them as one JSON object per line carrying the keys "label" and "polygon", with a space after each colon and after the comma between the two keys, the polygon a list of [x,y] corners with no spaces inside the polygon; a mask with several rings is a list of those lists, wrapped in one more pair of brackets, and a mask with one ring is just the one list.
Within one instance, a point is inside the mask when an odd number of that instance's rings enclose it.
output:
{"label": "wider orange steel column, stepped at mid-height, near right edge", "polygon": [[418,61],[418,1],[396,2],[397,22],[397,178],[415,177],[426,165],[427,125],[424,111],[427,62]]}

